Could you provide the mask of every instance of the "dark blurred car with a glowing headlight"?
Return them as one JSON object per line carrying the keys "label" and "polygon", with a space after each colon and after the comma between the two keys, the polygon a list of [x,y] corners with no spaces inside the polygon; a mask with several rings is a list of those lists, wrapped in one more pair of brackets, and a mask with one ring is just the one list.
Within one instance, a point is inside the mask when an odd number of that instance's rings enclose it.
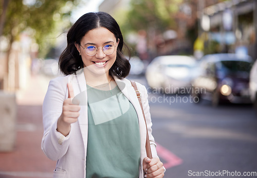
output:
{"label": "dark blurred car with a glowing headlight", "polygon": [[212,101],[213,106],[229,101],[251,103],[249,74],[252,59],[247,55],[213,54],[200,59],[200,75],[193,80],[192,94]]}

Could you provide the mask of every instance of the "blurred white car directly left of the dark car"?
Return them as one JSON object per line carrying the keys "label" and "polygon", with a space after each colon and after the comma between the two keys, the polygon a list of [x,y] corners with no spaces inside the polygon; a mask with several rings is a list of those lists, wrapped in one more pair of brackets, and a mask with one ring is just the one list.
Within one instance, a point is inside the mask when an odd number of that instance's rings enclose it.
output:
{"label": "blurred white car directly left of the dark car", "polygon": [[193,66],[196,61],[189,56],[159,56],[146,68],[145,78],[150,87],[163,93],[187,93],[192,80]]}

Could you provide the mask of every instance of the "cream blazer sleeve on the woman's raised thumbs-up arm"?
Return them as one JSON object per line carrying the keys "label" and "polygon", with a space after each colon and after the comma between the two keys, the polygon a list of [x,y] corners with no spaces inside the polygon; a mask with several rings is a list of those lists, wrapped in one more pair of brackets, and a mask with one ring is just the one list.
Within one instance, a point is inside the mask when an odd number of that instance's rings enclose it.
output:
{"label": "cream blazer sleeve on the woman's raised thumbs-up arm", "polygon": [[62,106],[67,94],[67,82],[60,79],[50,81],[43,102],[44,135],[41,148],[46,156],[54,161],[67,152],[70,140],[70,134],[65,137],[57,131],[57,120],[62,114]]}

